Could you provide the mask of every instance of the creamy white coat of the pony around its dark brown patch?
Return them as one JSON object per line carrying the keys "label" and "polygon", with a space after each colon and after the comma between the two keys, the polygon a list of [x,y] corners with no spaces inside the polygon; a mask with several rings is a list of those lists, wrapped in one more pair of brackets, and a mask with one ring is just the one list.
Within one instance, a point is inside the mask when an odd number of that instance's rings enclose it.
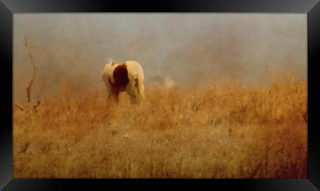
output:
{"label": "creamy white coat of the pony around its dark brown patch", "polygon": [[[128,71],[128,84],[124,88],[122,88],[122,90],[117,90],[113,86],[117,83],[114,78],[114,71],[118,66],[125,66]],[[102,76],[103,82],[105,83],[108,90],[108,98],[111,98],[111,96],[113,96],[116,101],[119,101],[119,93],[126,91],[130,96],[131,103],[136,103],[142,99],[145,99],[143,85],[144,72],[138,62],[127,61],[124,64],[116,64],[109,59],[109,63],[104,67]]]}

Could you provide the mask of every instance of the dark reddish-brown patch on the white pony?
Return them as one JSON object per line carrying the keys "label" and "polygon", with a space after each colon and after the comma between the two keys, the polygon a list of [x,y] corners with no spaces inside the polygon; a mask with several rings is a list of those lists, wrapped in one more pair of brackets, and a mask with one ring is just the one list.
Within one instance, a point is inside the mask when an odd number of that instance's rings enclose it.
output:
{"label": "dark reddish-brown patch on the white pony", "polygon": [[129,77],[128,77],[128,69],[126,63],[118,65],[114,71],[113,71],[113,78],[114,78],[114,83],[110,82],[113,91],[116,93],[119,92],[125,92],[126,91],[126,86],[129,83]]}

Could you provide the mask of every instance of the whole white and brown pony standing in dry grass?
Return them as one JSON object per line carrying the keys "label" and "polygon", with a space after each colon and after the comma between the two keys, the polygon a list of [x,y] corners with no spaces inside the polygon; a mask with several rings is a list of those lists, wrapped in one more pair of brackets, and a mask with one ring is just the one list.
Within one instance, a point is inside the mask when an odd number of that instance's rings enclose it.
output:
{"label": "whole white and brown pony standing in dry grass", "polygon": [[119,102],[119,93],[127,92],[131,103],[144,99],[144,73],[141,65],[135,61],[116,64],[112,61],[106,64],[103,71],[103,81],[107,86],[109,96]]}

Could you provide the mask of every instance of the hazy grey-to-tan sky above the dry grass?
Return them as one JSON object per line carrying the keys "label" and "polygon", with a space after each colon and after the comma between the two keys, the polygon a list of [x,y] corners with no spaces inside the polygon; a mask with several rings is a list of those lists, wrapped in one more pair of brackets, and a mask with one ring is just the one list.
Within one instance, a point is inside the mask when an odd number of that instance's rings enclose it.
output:
{"label": "hazy grey-to-tan sky above the dry grass", "polygon": [[64,84],[101,88],[108,58],[139,62],[145,82],[170,76],[182,86],[233,79],[265,84],[265,64],[307,75],[307,14],[14,14],[14,98]]}

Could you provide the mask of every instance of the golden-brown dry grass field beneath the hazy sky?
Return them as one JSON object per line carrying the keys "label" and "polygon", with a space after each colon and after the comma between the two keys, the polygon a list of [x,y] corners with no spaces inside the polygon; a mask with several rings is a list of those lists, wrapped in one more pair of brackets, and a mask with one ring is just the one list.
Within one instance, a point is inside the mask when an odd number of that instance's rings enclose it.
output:
{"label": "golden-brown dry grass field beneath the hazy sky", "polygon": [[14,106],[14,178],[307,178],[306,80],[105,91]]}

